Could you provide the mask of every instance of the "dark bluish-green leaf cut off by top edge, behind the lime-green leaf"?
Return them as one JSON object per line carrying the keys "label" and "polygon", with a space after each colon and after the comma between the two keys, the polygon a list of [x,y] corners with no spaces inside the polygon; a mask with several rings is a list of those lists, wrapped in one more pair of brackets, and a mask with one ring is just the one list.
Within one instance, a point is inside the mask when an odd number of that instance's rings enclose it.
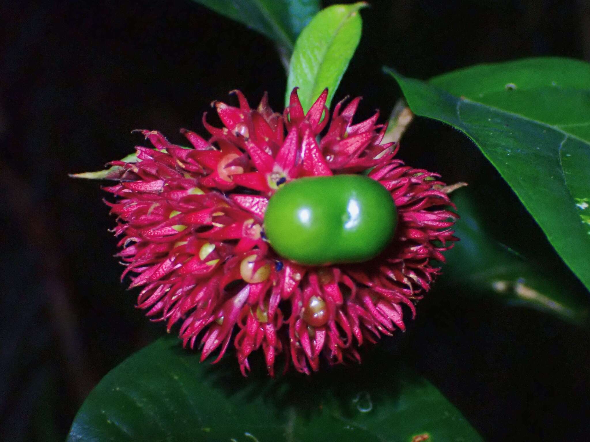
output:
{"label": "dark bluish-green leaf cut off by top edge, behind the lime-green leaf", "polygon": [[297,35],[320,9],[320,0],[193,0],[255,29],[289,52]]}

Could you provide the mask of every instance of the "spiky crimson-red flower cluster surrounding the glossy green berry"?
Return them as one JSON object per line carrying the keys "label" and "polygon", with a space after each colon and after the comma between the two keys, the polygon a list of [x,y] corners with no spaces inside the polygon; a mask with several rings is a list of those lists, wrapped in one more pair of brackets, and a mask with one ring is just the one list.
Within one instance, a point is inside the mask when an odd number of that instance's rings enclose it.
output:
{"label": "spiky crimson-red flower cluster surrounding the glossy green berry", "polygon": [[[456,216],[445,209],[452,204],[439,190],[444,184],[394,159],[396,144],[379,144],[386,129],[376,124],[379,113],[353,124],[360,98],[338,103],[330,121],[327,90],[307,114],[294,90],[283,115],[268,107],[266,95],[252,109],[234,93],[240,107],[214,103],[225,127],[203,117],[209,140],[182,130],[188,149],[142,131],[155,149],[137,147],[136,163],[111,163],[122,167],[120,182],[106,190],[117,196],[109,205],[114,232],[123,237],[123,276],[135,274],[131,287],[142,287],[137,306],[168,330],[181,322],[185,345],[199,339],[201,360],[218,349],[217,362],[237,329],[243,374],[260,347],[271,375],[278,354],[286,368],[292,361],[308,374],[320,354],[330,364],[360,361],[363,342],[404,330],[402,306],[415,315],[415,301],[438,273],[431,260],[443,261],[441,252],[456,240]],[[369,168],[398,209],[385,252],[370,262],[321,268],[274,253],[263,220],[281,184]]]}

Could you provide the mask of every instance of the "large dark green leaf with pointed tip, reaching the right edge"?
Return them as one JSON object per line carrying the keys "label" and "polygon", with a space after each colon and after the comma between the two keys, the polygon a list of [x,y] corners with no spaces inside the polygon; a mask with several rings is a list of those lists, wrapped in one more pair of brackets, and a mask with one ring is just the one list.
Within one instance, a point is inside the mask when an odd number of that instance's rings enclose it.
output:
{"label": "large dark green leaf with pointed tip, reaching the right edge", "polygon": [[430,83],[388,72],[414,113],[477,144],[590,289],[590,64],[532,58]]}

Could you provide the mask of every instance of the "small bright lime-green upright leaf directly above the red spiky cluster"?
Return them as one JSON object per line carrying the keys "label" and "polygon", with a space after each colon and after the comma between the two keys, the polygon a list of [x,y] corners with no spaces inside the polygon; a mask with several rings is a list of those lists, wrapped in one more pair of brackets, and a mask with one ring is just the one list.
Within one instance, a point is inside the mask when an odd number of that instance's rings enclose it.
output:
{"label": "small bright lime-green upright leaf directly above the red spiky cluster", "polygon": [[303,29],[291,56],[286,106],[293,88],[299,87],[299,100],[307,112],[327,87],[326,105],[330,107],[342,75],[359,45],[362,31],[359,9],[364,6],[365,2],[330,6]]}

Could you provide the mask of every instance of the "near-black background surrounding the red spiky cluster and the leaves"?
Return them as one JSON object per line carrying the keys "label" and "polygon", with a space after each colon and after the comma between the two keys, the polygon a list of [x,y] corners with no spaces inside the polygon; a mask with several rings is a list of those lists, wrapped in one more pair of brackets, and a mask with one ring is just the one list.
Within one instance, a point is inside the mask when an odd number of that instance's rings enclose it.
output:
{"label": "near-black background surrounding the red spiky cluster and the leaves", "polygon": [[[336,94],[363,95],[365,116],[399,98],[382,65],[428,78],[486,61],[590,58],[584,0],[371,3]],[[189,0],[4,0],[0,21],[0,438],[63,440],[93,385],[163,332],[119,282],[99,183],[67,173],[130,153],[143,143],[135,128],[178,143],[181,127],[203,133],[202,113],[233,88],[251,103],[267,90],[281,109],[286,79],[266,38]],[[450,127],[416,121],[400,155],[512,198]],[[435,289],[420,304],[406,338],[415,367],[487,440],[588,440],[588,331],[455,294]]]}

